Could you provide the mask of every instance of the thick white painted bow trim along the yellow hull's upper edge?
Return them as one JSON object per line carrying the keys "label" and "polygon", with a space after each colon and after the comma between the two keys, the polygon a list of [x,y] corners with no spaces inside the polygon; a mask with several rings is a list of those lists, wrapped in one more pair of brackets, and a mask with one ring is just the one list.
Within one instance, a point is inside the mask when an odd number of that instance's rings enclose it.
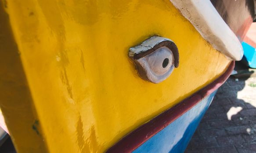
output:
{"label": "thick white painted bow trim along the yellow hull's upper edge", "polygon": [[241,60],[243,48],[210,0],[170,0],[215,49],[232,60]]}

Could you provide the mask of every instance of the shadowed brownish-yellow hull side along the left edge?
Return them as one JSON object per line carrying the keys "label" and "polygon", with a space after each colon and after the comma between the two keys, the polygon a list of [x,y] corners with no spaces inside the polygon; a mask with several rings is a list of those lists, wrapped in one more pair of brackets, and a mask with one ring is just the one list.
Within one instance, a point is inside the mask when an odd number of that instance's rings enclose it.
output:
{"label": "shadowed brownish-yellow hull side along the left edge", "polygon": [[5,118],[1,118],[1,123],[5,120],[18,151],[44,153],[43,137],[32,129],[38,117],[3,3],[0,3],[0,29],[0,108]]}

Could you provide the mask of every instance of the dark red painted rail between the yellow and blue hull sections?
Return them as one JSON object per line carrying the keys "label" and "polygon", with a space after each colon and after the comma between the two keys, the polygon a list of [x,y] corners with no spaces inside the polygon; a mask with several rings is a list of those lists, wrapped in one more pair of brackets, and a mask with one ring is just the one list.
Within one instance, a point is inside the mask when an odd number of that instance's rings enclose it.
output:
{"label": "dark red painted rail between the yellow and blue hull sections", "polygon": [[123,139],[121,139],[118,143],[109,148],[107,150],[107,153],[132,152],[137,147],[141,146],[141,144],[143,144],[145,141],[154,136],[156,133],[164,129],[174,120],[176,120],[185,112],[194,107],[198,102],[202,101],[204,97],[217,90],[227,80],[233,69],[234,61],[231,62],[226,72],[222,74],[218,79],[214,80],[208,86],[202,88],[191,97],[188,97],[174,107],[169,108],[162,114],[153,118],[151,121],[145,123],[144,125],[141,125],[138,129],[123,137]]}

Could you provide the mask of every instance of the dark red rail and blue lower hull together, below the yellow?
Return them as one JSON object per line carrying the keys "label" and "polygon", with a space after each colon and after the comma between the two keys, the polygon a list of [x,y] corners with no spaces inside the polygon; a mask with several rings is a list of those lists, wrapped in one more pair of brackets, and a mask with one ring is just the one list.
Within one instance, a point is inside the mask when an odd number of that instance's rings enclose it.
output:
{"label": "dark red rail and blue lower hull together, below the yellow", "polygon": [[107,152],[183,152],[216,90],[227,80],[233,69],[234,62],[218,79],[134,130]]}

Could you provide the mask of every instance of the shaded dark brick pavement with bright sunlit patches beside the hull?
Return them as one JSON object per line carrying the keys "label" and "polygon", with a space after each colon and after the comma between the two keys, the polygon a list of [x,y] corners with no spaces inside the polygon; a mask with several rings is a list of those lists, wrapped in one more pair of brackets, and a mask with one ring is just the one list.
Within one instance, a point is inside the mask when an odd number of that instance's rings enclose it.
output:
{"label": "shaded dark brick pavement with bright sunlit patches beside the hull", "polygon": [[256,153],[256,77],[220,87],[185,153]]}

